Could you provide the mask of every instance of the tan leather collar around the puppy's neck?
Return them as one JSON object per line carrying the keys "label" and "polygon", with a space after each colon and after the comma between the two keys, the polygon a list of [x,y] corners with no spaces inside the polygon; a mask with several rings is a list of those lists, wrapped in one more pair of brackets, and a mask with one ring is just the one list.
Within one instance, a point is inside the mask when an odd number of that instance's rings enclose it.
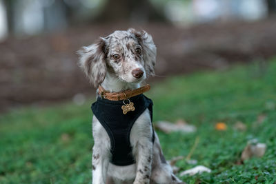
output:
{"label": "tan leather collar around the puppy's neck", "polygon": [[99,85],[99,95],[103,99],[108,99],[110,101],[119,101],[126,100],[131,98],[132,96],[137,96],[138,94],[142,94],[150,90],[150,85],[145,85],[141,88],[137,88],[135,90],[126,90],[124,92],[109,92],[106,91],[101,85]]}

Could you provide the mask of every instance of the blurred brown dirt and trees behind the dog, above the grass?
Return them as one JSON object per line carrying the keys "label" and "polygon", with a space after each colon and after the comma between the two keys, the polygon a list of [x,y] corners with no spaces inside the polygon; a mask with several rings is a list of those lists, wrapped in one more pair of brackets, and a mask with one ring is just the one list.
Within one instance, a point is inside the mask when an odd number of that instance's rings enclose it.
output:
{"label": "blurred brown dirt and trees behind the dog, above the grass", "polygon": [[152,81],[258,62],[276,50],[275,0],[0,0],[0,112],[95,93],[76,51],[115,30],[157,45]]}

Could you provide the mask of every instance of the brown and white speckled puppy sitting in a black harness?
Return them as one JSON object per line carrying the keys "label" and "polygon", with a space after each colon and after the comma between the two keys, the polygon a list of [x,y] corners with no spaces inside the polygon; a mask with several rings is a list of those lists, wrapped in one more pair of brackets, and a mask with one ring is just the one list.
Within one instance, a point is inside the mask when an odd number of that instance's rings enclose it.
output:
{"label": "brown and white speckled puppy sitting in a black harness", "polygon": [[[117,30],[108,37],[100,37],[96,43],[78,51],[80,67],[95,88],[99,88],[97,90],[99,103],[95,103],[96,105],[93,103],[97,107],[92,105],[94,112],[92,118],[94,138],[92,184],[184,183],[172,173],[172,168],[163,155],[158,136],[152,127],[150,99],[143,94],[132,98],[126,96],[126,92],[131,94],[143,88],[141,84],[145,79],[155,74],[156,53],[156,46],[151,35],[144,30],[137,31],[132,28],[126,31]],[[102,90],[99,92],[100,89]],[[105,99],[104,94],[120,94],[123,97],[126,96],[126,99],[109,101]],[[135,101],[134,106],[128,109],[133,104],[132,101]],[[141,104],[140,101],[142,101]],[[117,110],[112,112],[113,114],[108,114],[115,109],[111,102],[117,106],[119,103],[122,104],[119,108],[125,108],[130,112],[125,111],[124,115]],[[101,105],[103,105],[101,110],[97,110]],[[143,109],[143,107],[146,108]],[[110,129],[108,124],[103,124],[106,119],[116,119],[116,116],[122,116],[124,119],[124,116],[132,116],[131,114],[135,114],[136,111],[139,111],[139,116],[132,122],[130,130],[124,133],[129,135],[123,135],[128,140],[113,137],[115,132],[124,132],[123,129],[112,132],[113,130],[108,130]],[[114,128],[116,129],[116,126],[121,126],[121,124],[124,123],[119,122]],[[121,140],[124,143],[121,143]],[[127,148],[124,147],[125,144]],[[114,148],[115,145],[119,148]],[[131,156],[121,153],[124,150],[128,150]],[[115,161],[114,157],[119,158],[119,161]],[[124,158],[129,161],[128,164],[124,163]]]}

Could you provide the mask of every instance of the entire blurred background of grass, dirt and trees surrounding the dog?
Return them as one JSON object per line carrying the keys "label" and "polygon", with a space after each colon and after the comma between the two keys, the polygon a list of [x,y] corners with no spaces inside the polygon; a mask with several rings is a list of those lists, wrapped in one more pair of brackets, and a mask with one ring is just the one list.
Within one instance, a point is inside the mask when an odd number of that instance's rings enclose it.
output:
{"label": "entire blurred background of grass, dirt and trees surrounding the dog", "polygon": [[77,50],[128,28],[157,45],[146,95],[178,176],[275,183],[276,0],[0,0],[0,183],[91,183]]}

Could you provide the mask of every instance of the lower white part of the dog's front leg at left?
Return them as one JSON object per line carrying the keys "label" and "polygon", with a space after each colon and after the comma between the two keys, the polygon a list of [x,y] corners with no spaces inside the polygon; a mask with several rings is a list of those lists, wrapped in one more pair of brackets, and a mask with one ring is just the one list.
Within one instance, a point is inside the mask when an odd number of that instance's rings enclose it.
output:
{"label": "lower white part of the dog's front leg at left", "polygon": [[94,145],[92,154],[92,184],[105,184],[108,171],[108,156],[103,155]]}

